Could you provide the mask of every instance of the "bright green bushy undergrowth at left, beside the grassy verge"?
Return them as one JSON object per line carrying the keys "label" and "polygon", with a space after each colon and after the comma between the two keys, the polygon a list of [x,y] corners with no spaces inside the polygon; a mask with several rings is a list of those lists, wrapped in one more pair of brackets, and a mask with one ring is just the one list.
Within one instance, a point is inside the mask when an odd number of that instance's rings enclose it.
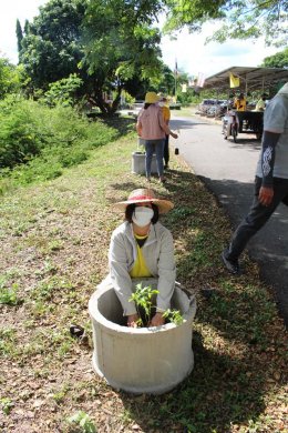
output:
{"label": "bright green bushy undergrowth at left, beside the grassy verge", "polygon": [[116,135],[115,129],[100,120],[91,123],[70,107],[51,109],[16,97],[0,102],[0,169],[27,163],[19,174],[24,183],[41,173],[42,179],[60,175],[62,168],[85,161],[90,149]]}

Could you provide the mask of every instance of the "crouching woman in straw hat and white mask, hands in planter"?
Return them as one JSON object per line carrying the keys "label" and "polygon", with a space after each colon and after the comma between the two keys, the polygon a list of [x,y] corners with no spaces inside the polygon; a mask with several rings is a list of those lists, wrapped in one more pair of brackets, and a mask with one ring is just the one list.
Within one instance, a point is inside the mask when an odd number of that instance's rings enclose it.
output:
{"label": "crouching woman in straw hat and white mask, hands in planter", "polygon": [[158,222],[158,216],[174,205],[157,199],[151,189],[138,189],[115,207],[124,212],[125,221],[111,236],[109,279],[127,316],[127,326],[136,328],[140,318],[134,303],[128,301],[133,279],[157,278],[156,313],[150,325],[160,326],[165,323],[162,314],[169,308],[176,269],[172,234]]}

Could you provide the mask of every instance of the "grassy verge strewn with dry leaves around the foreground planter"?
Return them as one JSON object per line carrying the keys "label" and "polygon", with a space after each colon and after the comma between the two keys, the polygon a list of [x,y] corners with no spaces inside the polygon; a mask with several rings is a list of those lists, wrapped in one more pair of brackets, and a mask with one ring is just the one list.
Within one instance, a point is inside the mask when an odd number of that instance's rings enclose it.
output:
{"label": "grassy verge strewn with dry leaves around the foreground planter", "polygon": [[[175,203],[162,221],[175,240],[177,280],[197,295],[195,369],[161,396],[116,392],[92,371],[88,302],[122,221],[111,204],[144,183],[130,173],[134,140],[1,199],[1,432],[284,431],[282,321],[256,265],[246,259],[238,279],[223,270],[229,224],[179,161],[165,188],[152,188]],[[73,339],[71,323],[88,338]]]}

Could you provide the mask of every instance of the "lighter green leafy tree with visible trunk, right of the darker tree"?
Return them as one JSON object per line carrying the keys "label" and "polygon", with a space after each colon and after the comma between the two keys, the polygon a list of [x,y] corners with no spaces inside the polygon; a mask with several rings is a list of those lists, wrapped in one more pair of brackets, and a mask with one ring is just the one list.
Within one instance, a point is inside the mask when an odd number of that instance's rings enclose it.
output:
{"label": "lighter green leafy tree with visible trunk, right of the darker tree", "polygon": [[[160,74],[161,36],[151,24],[158,11],[155,1],[95,0],[85,21],[82,66],[95,77],[94,99],[102,112],[114,112],[122,90],[135,95],[135,81],[147,82]],[[104,94],[113,94],[107,102]]]}

